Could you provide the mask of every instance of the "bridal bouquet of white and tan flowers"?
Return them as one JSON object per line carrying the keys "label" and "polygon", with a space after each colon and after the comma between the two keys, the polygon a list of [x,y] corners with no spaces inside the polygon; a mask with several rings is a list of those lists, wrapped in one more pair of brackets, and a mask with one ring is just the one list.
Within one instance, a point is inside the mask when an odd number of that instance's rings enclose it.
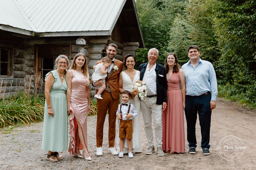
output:
{"label": "bridal bouquet of white and tan flowers", "polygon": [[146,102],[147,96],[147,83],[142,82],[141,80],[136,80],[136,83],[132,84],[132,91],[135,94],[136,98],[140,98],[143,102]]}

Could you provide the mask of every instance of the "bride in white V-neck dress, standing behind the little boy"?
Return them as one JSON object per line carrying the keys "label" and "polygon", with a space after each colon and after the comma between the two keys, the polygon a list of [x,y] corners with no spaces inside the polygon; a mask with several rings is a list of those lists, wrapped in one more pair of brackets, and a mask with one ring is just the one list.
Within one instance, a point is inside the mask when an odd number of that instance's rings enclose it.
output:
{"label": "bride in white V-neck dress, standing behind the little boy", "polygon": [[[136,80],[140,80],[140,72],[134,69],[134,64],[136,62],[135,57],[132,54],[127,54],[124,57],[124,67],[127,68],[125,71],[122,71],[118,78],[119,83],[119,92],[121,93],[124,90],[131,91],[132,99],[129,100],[129,103],[132,103],[135,106],[135,109],[138,111],[138,116],[132,119],[133,123],[133,133],[132,133],[132,152],[141,152],[141,141],[140,141],[140,99],[134,97],[135,94],[132,92],[131,87],[132,84],[136,82]],[[121,101],[121,100],[120,100]],[[122,102],[122,101],[121,101]],[[116,148],[118,152],[120,152],[120,138],[119,138],[119,120],[118,120],[118,131],[117,131],[117,141]],[[128,144],[127,139],[124,141],[124,153],[128,153]]]}

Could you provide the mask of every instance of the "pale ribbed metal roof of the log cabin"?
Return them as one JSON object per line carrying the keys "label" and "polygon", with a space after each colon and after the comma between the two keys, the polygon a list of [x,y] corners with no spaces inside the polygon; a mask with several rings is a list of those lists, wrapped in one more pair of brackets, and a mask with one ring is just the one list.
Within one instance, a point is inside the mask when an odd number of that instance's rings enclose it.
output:
{"label": "pale ribbed metal roof of the log cabin", "polygon": [[36,33],[110,35],[125,1],[0,0],[0,29],[4,25]]}

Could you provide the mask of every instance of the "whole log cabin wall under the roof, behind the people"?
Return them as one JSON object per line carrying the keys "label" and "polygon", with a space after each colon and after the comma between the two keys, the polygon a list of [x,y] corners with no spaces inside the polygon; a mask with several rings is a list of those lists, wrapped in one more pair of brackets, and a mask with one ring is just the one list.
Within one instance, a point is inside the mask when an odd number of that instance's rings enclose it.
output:
{"label": "whole log cabin wall under the roof, behind the people", "polygon": [[[115,34],[115,39],[118,34]],[[120,35],[118,35],[120,36]],[[76,44],[77,38],[84,38],[86,45]],[[84,52],[88,63],[89,75],[94,72],[93,66],[96,62],[106,56],[107,45],[114,43],[118,46],[116,59],[123,61],[126,54],[131,53],[135,55],[139,47],[138,42],[116,42],[112,40],[111,36],[84,36],[84,37],[39,37],[39,38],[18,38],[10,35],[0,36],[0,48],[7,48],[10,50],[10,76],[1,77],[1,91],[0,95],[10,95],[17,91],[29,90],[33,93],[34,88],[38,90],[43,78],[39,76],[38,64],[40,61],[37,58],[38,45],[70,45],[70,61],[73,61],[74,56],[78,52]],[[79,49],[84,51],[79,51]],[[70,63],[71,63],[70,62]],[[53,68],[52,68],[53,69]],[[27,80],[27,81],[25,81]],[[30,83],[28,82],[30,80]],[[3,87],[5,84],[6,87]],[[38,87],[38,88],[37,88]],[[94,95],[94,87],[90,86],[91,94]],[[3,92],[5,90],[5,92]],[[10,92],[9,92],[10,91]],[[41,93],[43,93],[41,91]]]}

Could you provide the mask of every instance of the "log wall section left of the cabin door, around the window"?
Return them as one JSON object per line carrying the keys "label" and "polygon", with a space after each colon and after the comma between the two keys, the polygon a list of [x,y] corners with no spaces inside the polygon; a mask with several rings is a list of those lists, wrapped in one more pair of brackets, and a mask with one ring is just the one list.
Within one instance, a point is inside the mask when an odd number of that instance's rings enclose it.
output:
{"label": "log wall section left of the cabin door, around the window", "polygon": [[[0,96],[32,93],[34,90],[34,47],[26,46],[24,38],[0,34],[1,50],[8,50],[8,75],[0,75]],[[2,56],[3,57],[3,56]],[[29,83],[32,82],[32,83]]]}

